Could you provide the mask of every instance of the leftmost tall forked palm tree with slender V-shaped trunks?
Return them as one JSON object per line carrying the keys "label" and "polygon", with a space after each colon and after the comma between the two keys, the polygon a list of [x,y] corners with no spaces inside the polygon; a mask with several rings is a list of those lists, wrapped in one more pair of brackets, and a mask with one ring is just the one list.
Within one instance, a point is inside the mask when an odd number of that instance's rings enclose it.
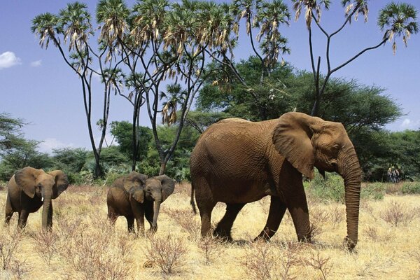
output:
{"label": "leftmost tall forked palm tree with slender V-shaped trunks", "polygon": [[[118,69],[121,61],[116,62],[109,57],[111,47],[108,45],[100,42],[97,47],[91,15],[84,3],[77,1],[69,3],[66,8],[59,10],[57,15],[52,13],[37,15],[32,20],[31,31],[38,36],[41,48],[47,49],[52,41],[66,65],[80,80],[87,129],[95,159],[94,176],[102,176],[100,155],[109,118],[110,95],[111,92],[116,92],[121,83],[121,72]],[[95,123],[92,123],[92,107],[95,105],[92,102],[92,94],[95,92],[96,82],[94,76],[102,79],[103,92],[99,143],[95,142],[93,134]]]}

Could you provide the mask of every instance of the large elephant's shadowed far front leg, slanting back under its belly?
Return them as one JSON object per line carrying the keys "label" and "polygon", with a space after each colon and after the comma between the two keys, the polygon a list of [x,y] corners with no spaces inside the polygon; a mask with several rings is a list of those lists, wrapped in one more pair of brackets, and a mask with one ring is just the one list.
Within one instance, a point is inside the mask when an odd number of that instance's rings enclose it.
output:
{"label": "large elephant's shadowed far front leg, slanting back under its belly", "polygon": [[272,196],[271,203],[269,205],[267,223],[265,223],[264,229],[260,232],[258,237],[255,237],[254,241],[258,239],[268,241],[277,232],[277,230],[279,230],[279,225],[283,219],[286,209],[286,204],[281,201],[280,197]]}

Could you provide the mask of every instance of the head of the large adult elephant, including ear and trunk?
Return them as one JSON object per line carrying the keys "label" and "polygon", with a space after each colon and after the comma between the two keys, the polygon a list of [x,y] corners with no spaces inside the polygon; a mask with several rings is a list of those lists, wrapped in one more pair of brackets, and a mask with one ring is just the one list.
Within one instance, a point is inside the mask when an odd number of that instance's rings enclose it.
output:
{"label": "head of the large adult elephant, including ear and trunk", "polygon": [[309,179],[314,177],[314,167],[321,174],[337,172],[342,176],[347,217],[345,241],[354,248],[358,240],[361,169],[344,126],[304,113],[285,113],[279,118],[272,141],[276,150]]}

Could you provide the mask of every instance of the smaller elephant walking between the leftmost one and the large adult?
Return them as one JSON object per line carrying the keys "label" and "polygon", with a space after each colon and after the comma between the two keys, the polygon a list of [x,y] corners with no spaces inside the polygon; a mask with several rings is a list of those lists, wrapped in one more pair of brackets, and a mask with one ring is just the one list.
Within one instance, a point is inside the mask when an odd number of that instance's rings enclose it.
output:
{"label": "smaller elephant walking between the leftmost one and the large adult", "polygon": [[125,216],[129,232],[134,232],[136,219],[138,234],[144,235],[146,216],[153,234],[158,230],[160,204],[174,192],[174,188],[175,181],[166,175],[148,178],[147,175],[131,172],[117,179],[109,188],[106,196],[108,218],[115,225],[118,216]]}

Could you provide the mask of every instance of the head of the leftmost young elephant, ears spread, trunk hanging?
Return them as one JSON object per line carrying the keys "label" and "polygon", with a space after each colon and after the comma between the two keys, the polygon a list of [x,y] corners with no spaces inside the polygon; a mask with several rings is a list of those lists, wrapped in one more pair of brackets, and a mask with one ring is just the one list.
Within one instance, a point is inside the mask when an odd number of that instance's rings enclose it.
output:
{"label": "head of the leftmost young elephant, ears spread, trunk hanging", "polygon": [[48,223],[51,222],[48,221],[51,200],[56,199],[69,186],[66,174],[61,170],[45,173],[42,169],[25,167],[16,172],[15,181],[28,197],[34,198],[35,195],[41,197],[43,200],[42,227],[47,228]]}

